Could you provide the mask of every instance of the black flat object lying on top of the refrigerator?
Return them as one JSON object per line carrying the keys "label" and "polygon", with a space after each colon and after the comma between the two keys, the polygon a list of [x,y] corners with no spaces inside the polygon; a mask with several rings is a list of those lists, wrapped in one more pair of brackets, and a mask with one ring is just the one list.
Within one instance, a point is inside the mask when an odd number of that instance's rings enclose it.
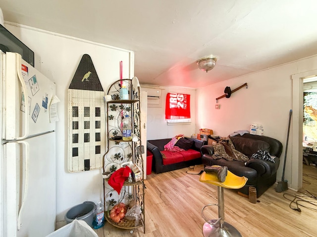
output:
{"label": "black flat object lying on top of the refrigerator", "polygon": [[34,67],[34,52],[26,46],[21,40],[16,38],[12,33],[0,24],[0,50],[3,53],[19,53],[22,59]]}

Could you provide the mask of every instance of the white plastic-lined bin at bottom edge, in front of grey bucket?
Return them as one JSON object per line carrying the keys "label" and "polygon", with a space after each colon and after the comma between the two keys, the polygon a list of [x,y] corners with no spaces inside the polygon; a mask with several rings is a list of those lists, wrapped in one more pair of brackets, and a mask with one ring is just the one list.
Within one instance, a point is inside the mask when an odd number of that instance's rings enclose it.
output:
{"label": "white plastic-lined bin at bottom edge, in front of grey bucket", "polygon": [[98,237],[96,232],[83,220],[73,222],[54,231],[46,237]]}

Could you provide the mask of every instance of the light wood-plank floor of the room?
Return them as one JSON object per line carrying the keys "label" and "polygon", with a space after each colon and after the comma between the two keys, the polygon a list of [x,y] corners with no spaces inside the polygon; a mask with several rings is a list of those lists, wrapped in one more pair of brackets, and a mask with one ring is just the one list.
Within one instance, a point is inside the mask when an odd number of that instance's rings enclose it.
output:
{"label": "light wood-plank floor of the room", "polygon": [[[315,173],[316,167],[310,170]],[[152,173],[145,180],[145,234],[143,228],[118,229],[106,223],[96,230],[99,237],[202,237],[205,223],[201,209],[209,203],[217,203],[217,187],[199,182],[200,175],[187,174],[189,168],[161,174]],[[303,172],[306,173],[306,170]],[[310,183],[317,180],[307,177]],[[317,211],[300,206],[301,212],[289,207],[293,196],[302,193],[287,190],[275,192],[276,185],[267,190],[256,204],[237,194],[224,190],[225,221],[233,225],[243,237],[315,237]],[[304,189],[310,191],[311,185]],[[305,190],[303,190],[305,192]],[[315,192],[315,193],[314,193]],[[316,189],[314,190],[317,196]],[[285,195],[285,197],[283,197]],[[314,199],[310,199],[314,200]],[[317,204],[315,199],[315,204]],[[294,203],[292,203],[294,204]],[[303,202],[300,202],[303,204]],[[307,205],[306,202],[304,205]],[[296,205],[292,205],[293,208]],[[309,207],[317,208],[310,205]],[[204,214],[217,219],[217,207],[207,207]]]}

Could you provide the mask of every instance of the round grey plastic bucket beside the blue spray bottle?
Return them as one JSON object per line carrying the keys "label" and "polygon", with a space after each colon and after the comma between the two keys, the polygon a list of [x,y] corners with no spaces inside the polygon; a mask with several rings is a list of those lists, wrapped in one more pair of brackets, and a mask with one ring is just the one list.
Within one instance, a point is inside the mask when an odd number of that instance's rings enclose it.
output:
{"label": "round grey plastic bucket beside the blue spray bottle", "polygon": [[92,227],[95,211],[96,205],[93,201],[84,201],[82,204],[70,208],[65,214],[65,220],[67,224],[75,219],[83,220]]}

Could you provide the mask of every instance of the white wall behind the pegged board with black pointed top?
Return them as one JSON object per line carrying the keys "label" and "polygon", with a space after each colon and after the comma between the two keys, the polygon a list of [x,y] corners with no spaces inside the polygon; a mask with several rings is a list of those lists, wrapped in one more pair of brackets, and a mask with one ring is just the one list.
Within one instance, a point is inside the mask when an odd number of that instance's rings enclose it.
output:
{"label": "white wall behind the pegged board with black pointed top", "polygon": [[[64,220],[69,208],[85,200],[97,202],[103,197],[101,169],[77,173],[67,171],[67,89],[83,56],[91,56],[105,92],[120,79],[119,62],[123,61],[123,78],[133,77],[130,57],[133,52],[114,49],[50,32],[6,24],[5,27],[35,53],[35,68],[56,83],[59,121],[56,122],[56,221]],[[39,197],[41,198],[41,197]],[[50,203],[48,203],[50,204]],[[39,217],[41,218],[41,217]]]}

